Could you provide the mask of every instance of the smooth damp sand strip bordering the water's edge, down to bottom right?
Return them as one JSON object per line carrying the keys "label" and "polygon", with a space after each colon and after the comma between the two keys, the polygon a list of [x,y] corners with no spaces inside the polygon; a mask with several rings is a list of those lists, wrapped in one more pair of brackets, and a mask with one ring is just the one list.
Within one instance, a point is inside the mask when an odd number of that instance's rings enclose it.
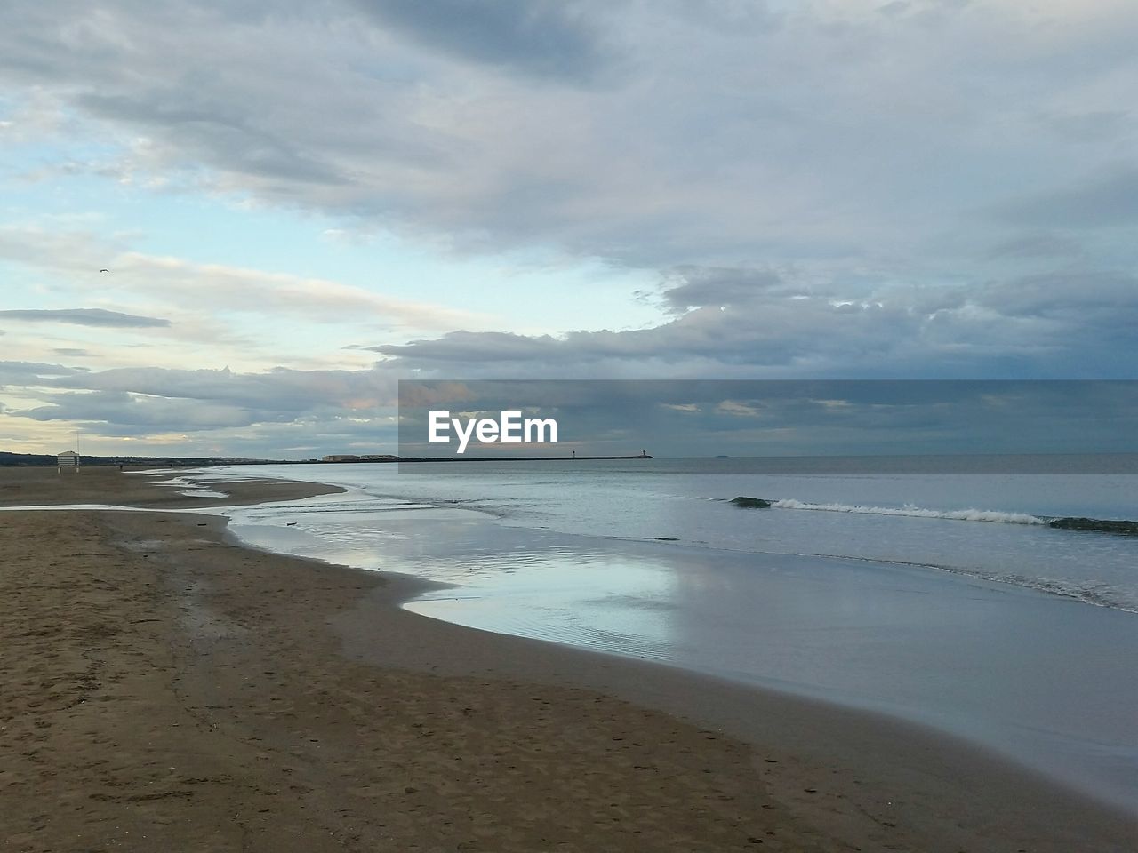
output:
{"label": "smooth damp sand strip bordering the water's edge, down to bottom right", "polygon": [[[899,834],[876,830],[899,826],[918,829],[908,840],[922,851],[970,850],[980,837],[1011,844],[1000,830],[1012,827],[1031,827],[1021,838],[1029,850],[1094,850],[1088,828],[1104,822],[1129,827],[1130,840],[1138,838],[1138,815],[929,726],[658,661],[446,622],[401,606],[430,581],[373,573],[388,582],[332,621],[354,660],[595,690],[737,738],[785,804],[842,827],[834,837],[849,844],[893,848]],[[819,775],[826,777],[820,784]],[[975,826],[954,833],[970,822]],[[1073,831],[1062,839],[1066,830]]]}

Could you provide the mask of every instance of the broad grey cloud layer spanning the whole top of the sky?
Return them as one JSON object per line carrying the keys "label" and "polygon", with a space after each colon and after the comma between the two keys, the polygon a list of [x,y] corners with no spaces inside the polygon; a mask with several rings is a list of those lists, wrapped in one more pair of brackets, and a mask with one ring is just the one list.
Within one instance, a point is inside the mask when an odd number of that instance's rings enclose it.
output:
{"label": "broad grey cloud layer spanning the whole top of the sky", "polygon": [[[1119,156],[1049,127],[1133,132],[1132,8],[973,6],[14,0],[0,84],[34,85],[40,138],[99,141],[64,146],[73,173],[461,249],[896,266],[990,245],[976,210]],[[1099,216],[1130,215],[1124,183]]]}

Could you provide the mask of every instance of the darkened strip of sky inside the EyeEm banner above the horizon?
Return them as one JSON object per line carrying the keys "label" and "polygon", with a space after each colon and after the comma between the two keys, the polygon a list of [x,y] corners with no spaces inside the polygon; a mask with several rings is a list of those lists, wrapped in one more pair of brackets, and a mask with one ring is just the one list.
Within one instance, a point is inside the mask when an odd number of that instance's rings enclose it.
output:
{"label": "darkened strip of sky inside the EyeEm banner above the horizon", "polygon": [[[546,419],[555,442],[547,423],[525,437],[527,420]],[[471,421],[496,428],[479,442]],[[503,423],[522,441],[501,441]],[[1058,454],[1067,473],[1132,472],[1133,459],[1067,456],[1138,453],[1138,381],[404,380],[398,449],[419,458],[996,454],[978,470],[1024,473]],[[1006,458],[1024,455],[1039,456]],[[943,470],[958,473],[950,462]]]}

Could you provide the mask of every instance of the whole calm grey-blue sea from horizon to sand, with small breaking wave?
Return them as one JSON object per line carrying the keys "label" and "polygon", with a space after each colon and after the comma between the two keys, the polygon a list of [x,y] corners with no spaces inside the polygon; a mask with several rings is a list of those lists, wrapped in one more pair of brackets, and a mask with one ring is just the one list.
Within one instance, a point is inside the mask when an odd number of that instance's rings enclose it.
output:
{"label": "whole calm grey-blue sea from horizon to sand, with small breaking wave", "polygon": [[916,722],[1138,813],[1138,524],[1100,523],[1138,520],[1138,455],[179,477],[345,487],[216,512],[256,547],[431,581],[403,605],[424,616]]}

